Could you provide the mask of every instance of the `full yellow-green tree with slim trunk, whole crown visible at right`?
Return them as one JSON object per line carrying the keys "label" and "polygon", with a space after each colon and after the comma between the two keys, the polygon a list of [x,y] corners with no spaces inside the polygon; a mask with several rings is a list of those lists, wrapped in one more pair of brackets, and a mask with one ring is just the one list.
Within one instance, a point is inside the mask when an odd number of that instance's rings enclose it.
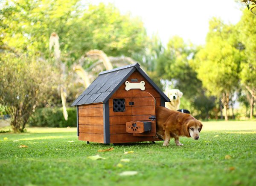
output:
{"label": "full yellow-green tree with slim trunk, whole crown visible at right", "polygon": [[213,18],[209,22],[206,46],[196,54],[193,62],[203,86],[221,99],[225,120],[228,120],[230,99],[239,86],[241,54],[236,48],[236,35],[233,25]]}

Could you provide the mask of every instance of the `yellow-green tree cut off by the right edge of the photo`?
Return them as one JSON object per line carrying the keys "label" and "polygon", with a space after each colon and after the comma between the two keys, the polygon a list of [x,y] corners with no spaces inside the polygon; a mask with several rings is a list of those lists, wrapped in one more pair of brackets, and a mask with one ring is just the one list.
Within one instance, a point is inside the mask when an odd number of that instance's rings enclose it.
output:
{"label": "yellow-green tree cut off by the right edge of the photo", "polygon": [[[250,24],[248,24],[250,23]],[[253,104],[256,99],[256,16],[244,10],[237,24],[239,40],[244,46],[241,61],[241,84],[250,93],[250,118],[253,118]]]}

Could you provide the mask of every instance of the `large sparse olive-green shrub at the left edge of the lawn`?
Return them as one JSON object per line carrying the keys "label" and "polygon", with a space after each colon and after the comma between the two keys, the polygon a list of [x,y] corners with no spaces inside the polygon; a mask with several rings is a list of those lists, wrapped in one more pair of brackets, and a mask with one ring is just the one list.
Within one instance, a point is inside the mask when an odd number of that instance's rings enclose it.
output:
{"label": "large sparse olive-green shrub at the left edge of the lawn", "polygon": [[0,104],[11,116],[13,130],[23,132],[32,111],[52,98],[56,88],[54,69],[26,55],[3,53],[0,74]]}

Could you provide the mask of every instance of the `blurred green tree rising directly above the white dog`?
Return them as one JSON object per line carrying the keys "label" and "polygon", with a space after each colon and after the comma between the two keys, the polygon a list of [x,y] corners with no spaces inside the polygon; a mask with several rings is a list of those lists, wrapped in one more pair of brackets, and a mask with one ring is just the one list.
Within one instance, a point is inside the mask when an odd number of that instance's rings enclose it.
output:
{"label": "blurred green tree rising directly above the white dog", "polygon": [[169,40],[166,49],[157,61],[157,72],[162,78],[172,81],[173,88],[180,89],[187,99],[192,99],[200,92],[201,81],[189,65],[189,57],[195,49],[175,36]]}

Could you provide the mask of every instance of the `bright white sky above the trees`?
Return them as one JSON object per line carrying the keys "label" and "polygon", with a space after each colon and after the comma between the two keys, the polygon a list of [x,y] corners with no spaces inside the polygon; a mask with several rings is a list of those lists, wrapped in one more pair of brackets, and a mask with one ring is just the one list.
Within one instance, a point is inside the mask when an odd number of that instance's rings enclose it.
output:
{"label": "bright white sky above the trees", "polygon": [[[164,44],[178,35],[185,41],[204,44],[211,17],[219,17],[225,23],[237,23],[241,17],[235,0],[92,0],[113,3],[122,14],[130,12],[139,16],[148,35],[158,34]],[[245,6],[245,5],[244,5]]]}

